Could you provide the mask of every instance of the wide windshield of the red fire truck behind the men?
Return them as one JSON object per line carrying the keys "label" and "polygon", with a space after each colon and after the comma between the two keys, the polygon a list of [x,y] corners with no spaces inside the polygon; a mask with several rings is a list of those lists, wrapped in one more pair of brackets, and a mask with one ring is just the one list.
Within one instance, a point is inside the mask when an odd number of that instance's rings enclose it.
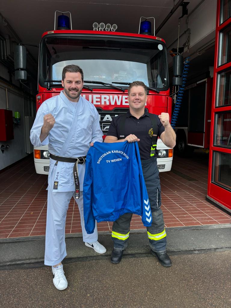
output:
{"label": "wide windshield of the red fire truck behind the men", "polygon": [[[87,34],[47,36],[41,42],[39,84],[47,87],[45,80],[61,80],[63,67],[70,64],[83,69],[85,80],[103,83],[139,80],[160,91],[168,89],[166,47],[154,39]],[[57,86],[55,82],[50,84]],[[110,88],[99,84],[94,87]]]}

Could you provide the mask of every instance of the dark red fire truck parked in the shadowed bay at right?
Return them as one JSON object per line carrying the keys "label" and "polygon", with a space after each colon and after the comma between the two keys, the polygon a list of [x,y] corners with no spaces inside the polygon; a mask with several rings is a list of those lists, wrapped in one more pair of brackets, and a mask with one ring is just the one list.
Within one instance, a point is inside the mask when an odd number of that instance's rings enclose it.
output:
{"label": "dark red fire truck parked in the shadowed bay at right", "polygon": [[212,88],[213,78],[210,77],[188,81],[184,87],[175,127],[174,149],[179,156],[187,156],[195,148],[209,152]]}

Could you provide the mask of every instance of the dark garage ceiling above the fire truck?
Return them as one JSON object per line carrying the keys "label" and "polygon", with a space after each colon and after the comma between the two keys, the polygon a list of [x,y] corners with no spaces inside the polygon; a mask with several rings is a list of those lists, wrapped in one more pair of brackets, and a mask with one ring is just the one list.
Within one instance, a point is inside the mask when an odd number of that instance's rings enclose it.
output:
{"label": "dark garage ceiling above the fire truck", "polygon": [[[190,1],[188,14],[201,2],[203,1]],[[39,44],[43,32],[54,30],[55,10],[59,10],[71,12],[72,29],[75,30],[93,30],[93,22],[103,22],[117,24],[120,32],[137,33],[140,16],[155,17],[157,29],[177,3],[178,0],[7,0],[1,3],[0,13],[3,19],[0,18],[0,32],[10,34],[14,39],[14,34],[17,34],[23,43]],[[179,7],[158,32],[158,36],[166,40],[167,46],[177,38],[178,18],[181,14],[182,7]],[[185,30],[185,20],[186,16],[181,19],[182,33]],[[9,31],[8,26],[13,31]],[[27,49],[35,59],[38,58],[36,48]]]}

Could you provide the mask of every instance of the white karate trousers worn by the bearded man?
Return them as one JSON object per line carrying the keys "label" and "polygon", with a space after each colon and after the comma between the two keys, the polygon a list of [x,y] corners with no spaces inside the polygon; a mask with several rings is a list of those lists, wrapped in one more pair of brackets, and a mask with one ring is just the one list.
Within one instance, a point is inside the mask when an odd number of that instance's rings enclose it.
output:
{"label": "white karate trousers worn by the bearded man", "polygon": [[[56,265],[60,263],[66,256],[65,243],[65,224],[67,217],[67,209],[71,197],[75,197],[75,192],[52,192],[51,185],[48,186],[47,197],[47,227],[45,241],[45,265]],[[75,199],[79,206],[81,227],[83,233],[83,241],[92,243],[98,240],[97,226],[95,222],[95,230],[92,234],[87,234],[84,226],[83,218],[83,192],[80,192],[80,198]]]}

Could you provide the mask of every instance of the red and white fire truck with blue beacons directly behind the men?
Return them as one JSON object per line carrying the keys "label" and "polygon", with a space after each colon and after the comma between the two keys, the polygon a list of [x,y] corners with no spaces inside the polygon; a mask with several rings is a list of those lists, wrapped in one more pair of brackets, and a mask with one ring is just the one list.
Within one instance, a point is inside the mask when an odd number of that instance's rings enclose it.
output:
{"label": "red and white fire truck with blue beacons directly behind the men", "polygon": [[[37,110],[46,99],[59,95],[63,67],[76,64],[84,73],[82,96],[95,105],[104,137],[112,118],[128,111],[128,86],[135,80],[148,86],[146,107],[149,112],[171,115],[164,40],[145,29],[144,34],[135,34],[115,32],[117,27],[113,25],[110,29],[109,24],[106,31],[104,24],[100,24],[98,30],[97,25],[93,24],[94,30],[69,30],[64,25],[59,26],[59,30],[43,33],[39,45]],[[169,171],[173,150],[160,139],[157,149],[159,170]],[[47,146],[34,148],[34,163],[37,173],[48,174]]]}

